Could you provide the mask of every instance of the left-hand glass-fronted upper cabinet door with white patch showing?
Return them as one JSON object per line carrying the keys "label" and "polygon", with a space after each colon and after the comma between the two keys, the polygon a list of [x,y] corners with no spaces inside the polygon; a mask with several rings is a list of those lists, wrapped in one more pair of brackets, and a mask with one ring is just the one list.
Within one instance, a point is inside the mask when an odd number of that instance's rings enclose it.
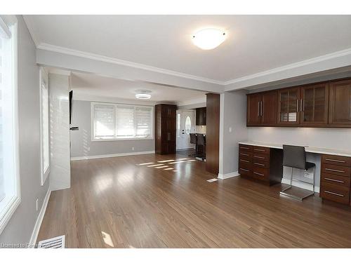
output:
{"label": "left-hand glass-fronted upper cabinet door with white patch showing", "polygon": [[278,123],[296,126],[300,123],[300,88],[278,90]]}

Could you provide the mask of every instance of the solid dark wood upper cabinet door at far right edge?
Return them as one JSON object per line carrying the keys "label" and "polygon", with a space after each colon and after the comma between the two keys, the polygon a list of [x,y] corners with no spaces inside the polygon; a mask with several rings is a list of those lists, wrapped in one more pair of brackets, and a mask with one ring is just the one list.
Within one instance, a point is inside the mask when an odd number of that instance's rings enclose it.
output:
{"label": "solid dark wood upper cabinet door at far right edge", "polygon": [[351,80],[329,83],[329,124],[351,126]]}

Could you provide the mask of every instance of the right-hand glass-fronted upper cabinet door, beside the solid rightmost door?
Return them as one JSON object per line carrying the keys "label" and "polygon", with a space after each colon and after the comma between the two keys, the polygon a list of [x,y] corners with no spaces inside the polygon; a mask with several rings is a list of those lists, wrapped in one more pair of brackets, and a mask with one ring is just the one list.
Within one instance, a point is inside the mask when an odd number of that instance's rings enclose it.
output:
{"label": "right-hand glass-fronted upper cabinet door, beside the solid rightmost door", "polygon": [[300,123],[310,126],[328,123],[328,104],[328,83],[301,87]]}

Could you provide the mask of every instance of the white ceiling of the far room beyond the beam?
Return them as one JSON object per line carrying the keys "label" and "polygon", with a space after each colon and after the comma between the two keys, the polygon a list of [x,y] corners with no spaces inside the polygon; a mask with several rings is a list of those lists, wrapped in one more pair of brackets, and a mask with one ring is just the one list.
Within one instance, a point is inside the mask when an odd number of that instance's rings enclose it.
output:
{"label": "white ceiling of the far room beyond the beam", "polygon": [[[151,100],[138,100],[138,102],[167,102],[184,104],[193,100],[206,100],[205,93],[195,90],[173,88],[152,83],[126,81],[114,79],[95,74],[72,72],[71,88],[74,90],[74,97],[87,100],[94,100],[94,97],[114,99],[135,100],[135,90],[150,90]],[[96,99],[95,99],[96,100]]]}

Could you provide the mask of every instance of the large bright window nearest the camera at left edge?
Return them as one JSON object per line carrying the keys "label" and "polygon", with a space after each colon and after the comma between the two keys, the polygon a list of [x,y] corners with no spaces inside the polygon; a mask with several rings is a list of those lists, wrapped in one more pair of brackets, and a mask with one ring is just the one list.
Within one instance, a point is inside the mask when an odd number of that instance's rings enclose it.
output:
{"label": "large bright window nearest the camera at left edge", "polygon": [[[11,16],[13,18],[13,16]],[[17,24],[0,17],[0,233],[20,204]]]}

